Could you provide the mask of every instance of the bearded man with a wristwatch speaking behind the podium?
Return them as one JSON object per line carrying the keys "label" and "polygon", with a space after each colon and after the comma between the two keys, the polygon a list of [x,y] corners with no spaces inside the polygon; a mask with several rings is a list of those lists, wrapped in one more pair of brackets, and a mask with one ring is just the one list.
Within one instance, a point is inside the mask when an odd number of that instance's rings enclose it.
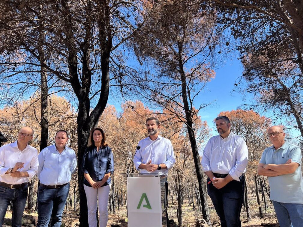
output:
{"label": "bearded man with a wristwatch speaking behind the podium", "polygon": [[[159,135],[160,123],[158,118],[149,117],[146,119],[146,127],[149,137],[140,140],[140,149],[134,156],[134,164],[140,173],[168,173],[176,162],[171,141]],[[168,183],[165,183],[166,200],[168,195]],[[166,212],[166,223],[168,215]],[[168,225],[169,226],[169,225]]]}

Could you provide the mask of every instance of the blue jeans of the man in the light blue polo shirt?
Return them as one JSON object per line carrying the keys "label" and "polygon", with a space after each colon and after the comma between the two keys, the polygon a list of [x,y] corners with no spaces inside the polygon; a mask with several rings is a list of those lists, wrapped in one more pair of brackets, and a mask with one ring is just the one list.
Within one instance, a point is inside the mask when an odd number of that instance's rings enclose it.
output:
{"label": "blue jeans of the man in the light blue polo shirt", "polygon": [[272,201],[281,227],[303,225],[303,204]]}

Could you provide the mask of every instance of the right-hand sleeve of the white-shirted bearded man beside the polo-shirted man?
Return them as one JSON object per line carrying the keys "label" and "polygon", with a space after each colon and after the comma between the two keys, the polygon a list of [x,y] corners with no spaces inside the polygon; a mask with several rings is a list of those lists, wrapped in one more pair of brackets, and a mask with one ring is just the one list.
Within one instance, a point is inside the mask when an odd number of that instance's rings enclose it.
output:
{"label": "right-hand sleeve of the white-shirted bearded man beside the polo-shirted man", "polygon": [[229,175],[236,181],[240,181],[239,177],[246,169],[248,163],[248,148],[245,141],[241,138],[238,140],[236,147],[236,164],[229,171]]}

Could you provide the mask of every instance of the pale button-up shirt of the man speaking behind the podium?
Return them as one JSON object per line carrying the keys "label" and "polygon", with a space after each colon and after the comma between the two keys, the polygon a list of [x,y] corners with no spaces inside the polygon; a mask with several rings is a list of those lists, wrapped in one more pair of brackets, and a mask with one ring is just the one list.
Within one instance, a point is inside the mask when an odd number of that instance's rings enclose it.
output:
{"label": "pale button-up shirt of the man speaking behind the podium", "polygon": [[166,138],[158,136],[156,140],[151,140],[147,137],[140,140],[138,146],[141,146],[141,148],[134,156],[134,164],[140,173],[149,173],[145,169],[139,169],[141,163],[146,164],[149,160],[152,164],[164,163],[167,166],[167,169],[155,170],[153,173],[168,173],[168,169],[176,162],[171,141]]}

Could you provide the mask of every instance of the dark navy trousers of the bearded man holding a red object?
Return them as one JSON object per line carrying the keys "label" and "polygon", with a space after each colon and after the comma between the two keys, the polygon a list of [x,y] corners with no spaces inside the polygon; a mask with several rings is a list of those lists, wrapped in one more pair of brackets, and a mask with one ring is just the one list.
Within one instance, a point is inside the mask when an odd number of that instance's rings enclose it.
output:
{"label": "dark navy trousers of the bearded man holding a red object", "polygon": [[[222,227],[241,227],[240,212],[244,197],[244,175],[240,181],[232,180],[221,189],[216,189],[212,183],[207,185]],[[209,182],[210,179],[207,179]]]}

